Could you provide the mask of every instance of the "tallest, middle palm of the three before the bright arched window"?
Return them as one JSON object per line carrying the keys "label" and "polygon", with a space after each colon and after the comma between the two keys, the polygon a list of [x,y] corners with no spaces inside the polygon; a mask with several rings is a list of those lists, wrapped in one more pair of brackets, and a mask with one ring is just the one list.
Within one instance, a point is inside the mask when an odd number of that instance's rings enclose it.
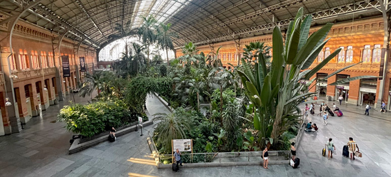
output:
{"label": "tallest, middle palm of the three before the bright arched window", "polygon": [[144,23],[142,23],[139,34],[142,39],[144,45],[146,45],[146,58],[147,58],[147,66],[150,64],[150,46],[151,43],[156,41],[155,34],[155,24],[156,19],[151,15],[149,17],[142,17],[144,19]]}

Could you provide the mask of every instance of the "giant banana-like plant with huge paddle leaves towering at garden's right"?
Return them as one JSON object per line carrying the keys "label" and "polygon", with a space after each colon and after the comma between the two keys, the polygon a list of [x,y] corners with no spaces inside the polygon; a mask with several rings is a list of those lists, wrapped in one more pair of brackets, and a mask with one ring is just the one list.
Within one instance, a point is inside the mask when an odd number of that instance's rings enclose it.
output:
{"label": "giant banana-like plant with huge paddle leaves towering at garden's right", "polygon": [[[273,29],[273,60],[268,70],[264,55],[259,55],[253,65],[241,59],[242,69],[238,71],[246,94],[256,108],[253,115],[254,128],[258,130],[258,142],[264,147],[267,142],[279,141],[282,133],[298,122],[298,105],[316,93],[308,92],[313,78],[307,83],[300,80],[312,78],[323,66],[333,59],[341,49],[335,50],[318,65],[309,69],[326,42],[332,23],[311,34],[312,15],[303,18],[299,9],[294,21],[289,23],[285,42],[278,26]],[[351,66],[350,66],[351,67]],[[349,67],[346,67],[349,68]],[[345,68],[345,69],[346,69]],[[340,69],[328,77],[335,75]],[[332,84],[373,76],[351,77]]]}

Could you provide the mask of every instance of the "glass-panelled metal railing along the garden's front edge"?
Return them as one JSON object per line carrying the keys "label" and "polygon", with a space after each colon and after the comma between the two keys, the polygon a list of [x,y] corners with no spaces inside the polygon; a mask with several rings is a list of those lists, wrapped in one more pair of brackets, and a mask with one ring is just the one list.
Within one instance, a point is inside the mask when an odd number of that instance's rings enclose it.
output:
{"label": "glass-panelled metal railing along the garden's front edge", "polygon": [[[224,162],[259,162],[263,151],[248,152],[215,152],[215,153],[182,153],[183,163],[224,163]],[[269,160],[289,160],[290,151],[268,151]],[[159,155],[159,163],[172,163],[171,154]]]}

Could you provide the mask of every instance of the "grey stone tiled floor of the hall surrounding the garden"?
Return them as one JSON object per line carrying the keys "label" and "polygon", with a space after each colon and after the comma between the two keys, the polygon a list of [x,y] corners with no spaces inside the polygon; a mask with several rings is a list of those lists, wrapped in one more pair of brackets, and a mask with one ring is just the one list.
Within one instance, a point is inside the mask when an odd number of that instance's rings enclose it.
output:
{"label": "grey stone tiled floor of the hall surrounding the garden", "polygon": [[[68,97],[69,98],[69,97]],[[75,97],[76,98],[76,97]],[[76,98],[76,102],[82,99]],[[132,132],[114,143],[102,143],[68,155],[71,133],[56,119],[60,105],[35,117],[19,134],[0,137],[0,176],[390,176],[391,174],[391,115],[371,110],[363,115],[362,108],[338,106],[343,117],[330,117],[322,125],[321,117],[310,116],[319,124],[318,134],[304,134],[298,148],[299,169],[289,165],[157,169],[146,144],[146,136]],[[331,102],[330,102],[331,103]],[[328,103],[328,104],[330,104]],[[146,104],[150,114],[168,112],[154,97]],[[153,126],[145,127],[153,130]],[[145,131],[144,131],[145,132]],[[353,137],[363,158],[351,161],[341,156],[341,149]],[[331,160],[321,156],[328,138],[333,138],[337,155]]]}

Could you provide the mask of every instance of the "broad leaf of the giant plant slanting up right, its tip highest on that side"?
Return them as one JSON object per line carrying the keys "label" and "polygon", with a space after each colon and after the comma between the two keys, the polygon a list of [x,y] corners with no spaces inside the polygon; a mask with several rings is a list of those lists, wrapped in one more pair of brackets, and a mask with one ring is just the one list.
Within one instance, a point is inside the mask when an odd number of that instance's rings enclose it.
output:
{"label": "broad leaf of the giant plant slanting up right, its tip highest on that side", "polygon": [[310,38],[308,38],[304,47],[299,51],[296,55],[296,58],[293,63],[300,64],[311,54],[311,52],[317,47],[319,42],[324,40],[325,35],[327,35],[328,31],[330,31],[332,23],[325,24],[318,31],[313,33]]}

